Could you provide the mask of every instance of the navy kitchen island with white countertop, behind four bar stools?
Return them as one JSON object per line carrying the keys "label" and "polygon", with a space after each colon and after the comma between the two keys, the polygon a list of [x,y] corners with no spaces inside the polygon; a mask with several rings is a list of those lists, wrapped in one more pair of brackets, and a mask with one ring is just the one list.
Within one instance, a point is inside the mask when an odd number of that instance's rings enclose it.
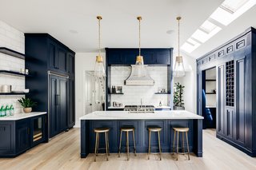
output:
{"label": "navy kitchen island with white countertop, behind four bar stools", "polygon": [[[188,133],[190,151],[202,157],[202,119],[187,111],[156,111],[155,113],[128,113],[125,111],[97,111],[80,117],[81,120],[81,157],[94,152],[94,128],[110,128],[110,153],[118,152],[120,128],[134,126],[137,152],[148,151],[147,127],[162,127],[160,133],[162,152],[171,152],[174,140],[174,127],[190,128]],[[126,144],[122,138],[122,146]],[[130,145],[132,137],[130,136]],[[182,137],[180,137],[182,139]],[[180,142],[179,142],[180,143]],[[151,134],[151,145],[157,145],[157,134]],[[181,143],[180,143],[181,144]],[[100,136],[100,148],[105,147],[105,138]]]}

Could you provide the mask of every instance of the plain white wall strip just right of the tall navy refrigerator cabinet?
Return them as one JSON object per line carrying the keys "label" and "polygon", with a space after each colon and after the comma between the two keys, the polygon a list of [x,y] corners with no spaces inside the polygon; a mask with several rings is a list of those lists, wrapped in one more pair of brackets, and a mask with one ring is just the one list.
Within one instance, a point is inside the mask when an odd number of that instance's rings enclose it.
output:
{"label": "plain white wall strip just right of the tall navy refrigerator cabinet", "polygon": [[[86,71],[94,71],[95,57],[98,53],[75,54],[75,127],[80,127],[79,117],[86,112],[85,76]],[[105,53],[102,53],[105,60]]]}

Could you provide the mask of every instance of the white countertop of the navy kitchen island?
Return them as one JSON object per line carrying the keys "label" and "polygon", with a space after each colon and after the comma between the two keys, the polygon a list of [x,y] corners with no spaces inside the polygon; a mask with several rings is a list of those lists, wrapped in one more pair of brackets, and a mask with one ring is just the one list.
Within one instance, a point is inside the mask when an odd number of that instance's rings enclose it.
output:
{"label": "white countertop of the navy kitchen island", "polygon": [[185,110],[155,111],[154,113],[128,113],[126,111],[96,111],[80,117],[80,120],[178,120],[203,119]]}

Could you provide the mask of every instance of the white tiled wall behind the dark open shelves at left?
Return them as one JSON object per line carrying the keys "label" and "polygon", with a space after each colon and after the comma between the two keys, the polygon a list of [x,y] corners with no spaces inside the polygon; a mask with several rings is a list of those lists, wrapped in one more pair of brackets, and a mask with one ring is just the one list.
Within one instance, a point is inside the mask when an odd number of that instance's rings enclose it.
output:
{"label": "white tiled wall behind the dark open shelves at left", "polygon": [[[7,47],[19,53],[25,53],[24,34],[0,21],[0,47]],[[20,71],[25,69],[25,60],[0,53],[0,69]],[[12,90],[22,91],[25,89],[25,77],[14,77],[0,74],[0,92],[2,85],[12,85]],[[19,105],[18,99],[24,96],[0,96],[1,105],[14,105],[14,113],[22,113],[22,106]]]}

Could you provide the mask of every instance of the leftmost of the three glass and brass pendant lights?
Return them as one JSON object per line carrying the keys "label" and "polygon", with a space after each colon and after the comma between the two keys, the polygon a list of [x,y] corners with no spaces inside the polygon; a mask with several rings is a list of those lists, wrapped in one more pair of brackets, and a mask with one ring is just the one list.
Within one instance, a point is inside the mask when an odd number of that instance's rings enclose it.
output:
{"label": "leftmost of the three glass and brass pendant lights", "polygon": [[106,77],[105,67],[103,65],[103,57],[101,55],[101,16],[97,16],[98,19],[98,56],[96,56],[96,63],[94,67],[95,77]]}

